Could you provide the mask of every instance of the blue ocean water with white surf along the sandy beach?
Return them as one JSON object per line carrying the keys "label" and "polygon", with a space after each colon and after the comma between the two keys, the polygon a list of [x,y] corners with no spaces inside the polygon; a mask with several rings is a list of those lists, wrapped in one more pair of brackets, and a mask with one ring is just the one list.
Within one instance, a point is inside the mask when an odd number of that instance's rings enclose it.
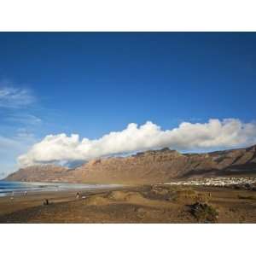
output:
{"label": "blue ocean water with white surf along the sandy beach", "polygon": [[119,187],[117,184],[81,184],[81,183],[27,183],[0,181],[0,196],[24,195],[30,192],[42,191],[65,191],[65,190],[85,190],[85,189],[108,189]]}

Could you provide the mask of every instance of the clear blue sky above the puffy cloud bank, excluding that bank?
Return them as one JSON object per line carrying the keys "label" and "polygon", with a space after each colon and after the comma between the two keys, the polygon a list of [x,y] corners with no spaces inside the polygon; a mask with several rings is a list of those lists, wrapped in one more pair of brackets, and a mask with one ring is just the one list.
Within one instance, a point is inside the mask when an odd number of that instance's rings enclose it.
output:
{"label": "clear blue sky above the puffy cloud bank, excluding that bank", "polygon": [[49,134],[254,122],[255,82],[256,33],[1,32],[0,89],[13,97],[0,94],[0,137],[19,144],[2,146],[2,172]]}

